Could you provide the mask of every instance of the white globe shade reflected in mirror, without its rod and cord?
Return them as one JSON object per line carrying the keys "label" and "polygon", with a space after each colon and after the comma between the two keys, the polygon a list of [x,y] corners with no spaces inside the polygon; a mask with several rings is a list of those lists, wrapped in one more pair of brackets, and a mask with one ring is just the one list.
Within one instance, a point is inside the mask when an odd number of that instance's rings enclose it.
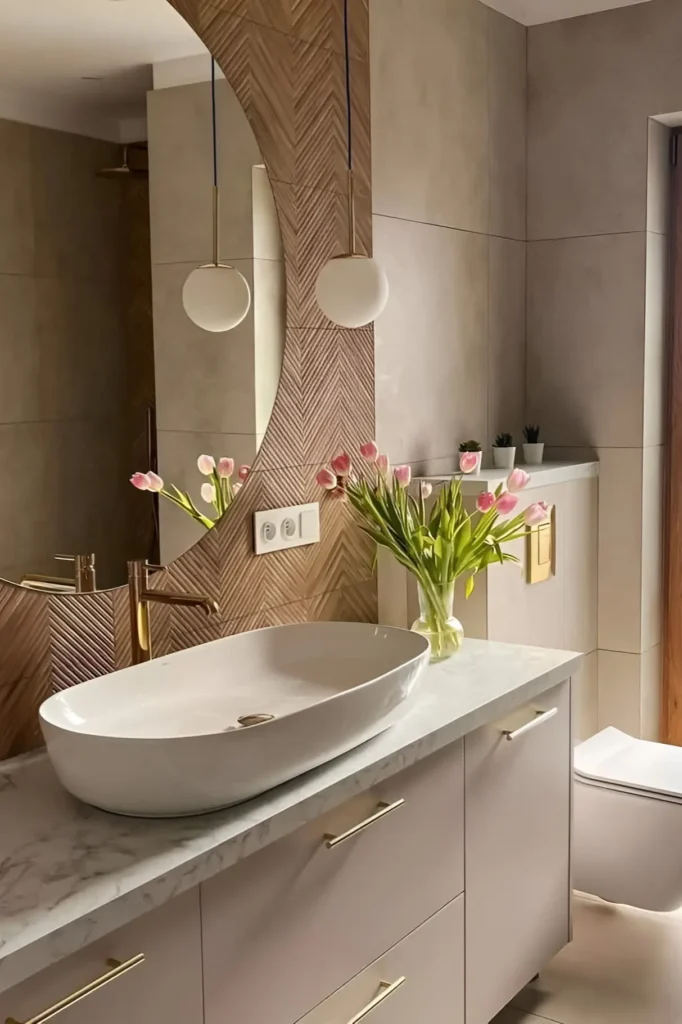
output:
{"label": "white globe shade reflected in mirror, without its rod and cord", "polygon": [[208,263],[193,270],[185,281],[182,305],[189,319],[204,331],[231,331],[249,312],[251,289],[235,267]]}

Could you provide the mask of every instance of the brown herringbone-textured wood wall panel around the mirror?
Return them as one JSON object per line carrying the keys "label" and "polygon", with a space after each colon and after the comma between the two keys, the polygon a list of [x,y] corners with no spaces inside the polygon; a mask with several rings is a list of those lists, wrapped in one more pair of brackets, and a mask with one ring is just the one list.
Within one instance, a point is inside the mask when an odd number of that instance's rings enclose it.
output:
{"label": "brown herringbone-textured wood wall panel around the mirror", "polygon": [[[322,543],[253,555],[258,509],[317,500],[318,466],[374,435],[374,333],[330,324],[317,270],[346,243],[342,0],[170,0],[214,53],[251,122],[272,180],[287,265],[287,345],[254,471],[231,513],[155,578],[214,597],[220,615],[155,606],[157,654],[262,626],[376,621],[373,551],[339,503]],[[351,0],[353,146],[360,243],[371,249],[368,0]],[[54,688],[130,663],[127,592],[47,596],[0,583],[0,758],[40,743]]]}

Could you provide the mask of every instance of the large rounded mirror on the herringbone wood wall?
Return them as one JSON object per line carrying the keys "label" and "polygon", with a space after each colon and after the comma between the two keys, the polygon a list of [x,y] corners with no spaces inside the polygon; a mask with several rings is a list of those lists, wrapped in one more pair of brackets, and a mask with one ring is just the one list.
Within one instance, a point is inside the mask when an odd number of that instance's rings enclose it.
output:
{"label": "large rounded mirror on the herringbone wood wall", "polygon": [[[168,0],[0,6],[0,578],[11,583],[74,589],[57,555],[94,555],[97,589],[124,584],[130,559],[177,558],[262,442],[284,257],[256,139],[211,71]],[[197,327],[182,301],[212,259],[214,155],[220,260],[251,293],[223,333]],[[231,460],[231,475],[229,462],[203,475],[200,456]],[[179,504],[131,485],[150,470]],[[79,567],[87,589],[87,559]]]}

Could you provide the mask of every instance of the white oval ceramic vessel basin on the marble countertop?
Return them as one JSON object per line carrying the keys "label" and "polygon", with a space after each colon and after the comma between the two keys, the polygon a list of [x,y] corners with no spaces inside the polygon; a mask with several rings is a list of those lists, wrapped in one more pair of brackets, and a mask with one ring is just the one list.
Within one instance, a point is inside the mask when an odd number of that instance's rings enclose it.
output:
{"label": "white oval ceramic vessel basin on the marble countertop", "polygon": [[[40,709],[62,784],[119,814],[217,810],[399,718],[428,662],[416,633],[310,623],[243,633],[92,679]],[[260,716],[272,716],[261,724]]]}

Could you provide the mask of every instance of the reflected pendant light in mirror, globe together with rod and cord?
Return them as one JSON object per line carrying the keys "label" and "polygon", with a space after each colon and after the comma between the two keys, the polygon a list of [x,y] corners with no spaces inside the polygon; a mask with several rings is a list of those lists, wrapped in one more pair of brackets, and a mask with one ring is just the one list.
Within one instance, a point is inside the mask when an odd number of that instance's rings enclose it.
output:
{"label": "reflected pendant light in mirror, globe together with rod and cord", "polygon": [[231,331],[251,306],[246,278],[220,262],[220,193],[218,186],[218,134],[215,104],[215,60],[211,58],[211,117],[213,126],[213,262],[193,270],[182,289],[184,311],[204,331]]}

